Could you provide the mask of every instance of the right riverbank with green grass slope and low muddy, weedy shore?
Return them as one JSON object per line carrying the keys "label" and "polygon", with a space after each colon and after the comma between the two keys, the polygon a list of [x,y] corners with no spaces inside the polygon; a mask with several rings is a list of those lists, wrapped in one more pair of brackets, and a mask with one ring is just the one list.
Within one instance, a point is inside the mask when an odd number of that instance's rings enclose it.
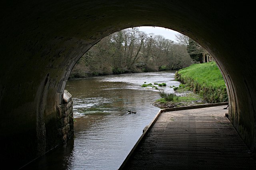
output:
{"label": "right riverbank with green grass slope and low muddy, weedy shore", "polygon": [[215,62],[182,68],[176,72],[175,80],[182,84],[173,87],[174,91],[184,96],[175,97],[172,101],[160,98],[154,102],[155,106],[172,108],[228,102],[226,85]]}

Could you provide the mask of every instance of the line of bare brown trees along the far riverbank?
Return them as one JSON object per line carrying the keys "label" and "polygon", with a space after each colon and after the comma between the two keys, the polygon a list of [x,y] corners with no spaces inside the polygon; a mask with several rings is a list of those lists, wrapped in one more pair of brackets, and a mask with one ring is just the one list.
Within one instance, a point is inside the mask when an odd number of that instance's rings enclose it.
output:
{"label": "line of bare brown trees along the far riverbank", "polygon": [[88,50],[70,78],[178,70],[193,63],[187,45],[129,28],[104,37]]}

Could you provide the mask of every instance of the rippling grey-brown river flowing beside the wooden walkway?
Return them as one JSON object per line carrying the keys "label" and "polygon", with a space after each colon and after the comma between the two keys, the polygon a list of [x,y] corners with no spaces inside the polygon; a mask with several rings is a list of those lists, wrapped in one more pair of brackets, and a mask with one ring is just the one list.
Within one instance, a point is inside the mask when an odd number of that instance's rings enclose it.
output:
{"label": "rippling grey-brown river flowing beside the wooden walkway", "polygon": [[[159,107],[158,90],[146,82],[178,86],[174,71],[97,76],[68,80],[72,94],[74,139],[50,150],[25,169],[117,170],[142,135]],[[135,111],[128,114],[126,111]]]}

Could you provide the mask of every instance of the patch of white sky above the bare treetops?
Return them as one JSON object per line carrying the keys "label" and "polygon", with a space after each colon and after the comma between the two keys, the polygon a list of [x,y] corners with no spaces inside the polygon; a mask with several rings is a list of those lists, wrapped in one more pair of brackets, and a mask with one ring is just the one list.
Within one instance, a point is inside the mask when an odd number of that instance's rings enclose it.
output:
{"label": "patch of white sky above the bare treetops", "polygon": [[172,29],[166,29],[163,27],[138,27],[140,31],[143,31],[147,34],[154,33],[155,35],[162,35],[166,39],[170,39],[176,41],[175,34],[178,34],[177,31],[173,31]]}

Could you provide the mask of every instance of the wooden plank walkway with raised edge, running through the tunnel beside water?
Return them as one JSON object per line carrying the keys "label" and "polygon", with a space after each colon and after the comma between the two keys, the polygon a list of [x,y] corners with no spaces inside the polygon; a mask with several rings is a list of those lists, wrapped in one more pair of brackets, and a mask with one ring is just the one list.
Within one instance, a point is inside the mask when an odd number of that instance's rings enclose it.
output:
{"label": "wooden plank walkway with raised edge, running through the tunnel beside water", "polygon": [[256,169],[224,107],[160,111],[119,169]]}

